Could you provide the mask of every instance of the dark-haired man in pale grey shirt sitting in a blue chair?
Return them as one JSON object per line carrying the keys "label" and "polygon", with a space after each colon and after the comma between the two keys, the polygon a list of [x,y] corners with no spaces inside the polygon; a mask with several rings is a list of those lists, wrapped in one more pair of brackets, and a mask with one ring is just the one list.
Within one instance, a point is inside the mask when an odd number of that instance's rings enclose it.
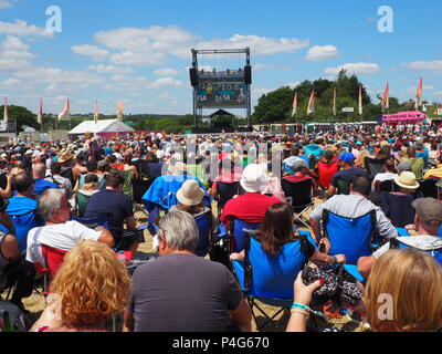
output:
{"label": "dark-haired man in pale grey shirt sitting in a blue chair", "polygon": [[[316,241],[324,242],[328,240],[320,239],[320,226],[319,222],[323,219],[323,211],[326,209],[333,214],[345,218],[359,218],[369,214],[371,210],[376,210],[376,231],[382,239],[390,239],[398,235],[396,228],[386,218],[382,210],[373,205],[368,197],[370,195],[371,184],[367,177],[356,177],[350,186],[350,194],[337,195],[328,199],[324,204],[317,206],[311,214],[312,230],[316,237]],[[345,235],[343,235],[345,237]],[[329,244],[328,244],[329,246]]]}

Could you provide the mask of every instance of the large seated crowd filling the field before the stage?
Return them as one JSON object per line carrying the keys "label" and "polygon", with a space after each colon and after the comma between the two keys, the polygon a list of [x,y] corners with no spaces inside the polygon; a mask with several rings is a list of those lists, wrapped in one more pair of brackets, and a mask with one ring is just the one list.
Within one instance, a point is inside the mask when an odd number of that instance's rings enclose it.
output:
{"label": "large seated crowd filling the field before the stage", "polygon": [[[32,331],[105,331],[124,313],[127,332],[246,332],[253,309],[232,263],[248,261],[252,233],[271,260],[263,288],[282,277],[287,249],[302,252],[286,275],[287,331],[326,312],[317,294],[328,278],[308,282],[306,268],[347,269],[360,301],[329,302],[366,314],[373,331],[439,331],[441,147],[433,126],[10,142],[0,147],[0,289],[27,313],[23,299],[56,254],[48,291],[56,300]],[[155,257],[129,273],[118,256],[139,251],[138,238],[124,241],[139,228],[140,204]],[[83,222],[103,216],[107,225]],[[238,221],[254,232],[236,235]],[[392,317],[379,317],[386,293]]]}

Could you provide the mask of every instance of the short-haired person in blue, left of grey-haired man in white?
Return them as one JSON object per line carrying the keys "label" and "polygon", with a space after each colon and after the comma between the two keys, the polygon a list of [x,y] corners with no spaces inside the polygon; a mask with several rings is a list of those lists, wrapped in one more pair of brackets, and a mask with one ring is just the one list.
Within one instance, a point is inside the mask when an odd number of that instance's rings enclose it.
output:
{"label": "short-haired person in blue, left of grey-haired man in white", "polygon": [[18,218],[14,235],[21,252],[27,251],[28,233],[31,229],[42,226],[44,221],[36,215],[38,202],[32,198],[34,180],[28,173],[20,173],[13,179],[17,195],[8,200],[7,214]]}

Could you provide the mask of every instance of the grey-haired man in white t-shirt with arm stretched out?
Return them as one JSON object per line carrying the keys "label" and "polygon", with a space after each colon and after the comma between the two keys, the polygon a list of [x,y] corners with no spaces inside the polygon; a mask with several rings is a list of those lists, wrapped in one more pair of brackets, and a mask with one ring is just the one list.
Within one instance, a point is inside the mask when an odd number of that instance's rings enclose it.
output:
{"label": "grey-haired man in white t-shirt with arm stretched out", "polygon": [[93,240],[114,247],[110,231],[103,227],[92,230],[77,221],[71,221],[71,205],[63,189],[48,189],[39,199],[39,214],[45,226],[28,233],[27,260],[43,264],[41,246],[70,251],[83,240]]}

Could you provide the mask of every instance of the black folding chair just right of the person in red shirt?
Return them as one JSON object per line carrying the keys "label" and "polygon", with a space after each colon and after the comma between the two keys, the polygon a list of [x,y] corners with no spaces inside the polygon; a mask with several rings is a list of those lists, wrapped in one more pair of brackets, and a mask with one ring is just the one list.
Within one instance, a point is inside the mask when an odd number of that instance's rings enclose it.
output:
{"label": "black folding chair just right of the person in red shirt", "polygon": [[306,228],[309,228],[308,219],[304,216],[315,202],[313,200],[312,179],[302,181],[291,181],[285,178],[281,181],[287,202],[295,214],[295,221],[299,221]]}

